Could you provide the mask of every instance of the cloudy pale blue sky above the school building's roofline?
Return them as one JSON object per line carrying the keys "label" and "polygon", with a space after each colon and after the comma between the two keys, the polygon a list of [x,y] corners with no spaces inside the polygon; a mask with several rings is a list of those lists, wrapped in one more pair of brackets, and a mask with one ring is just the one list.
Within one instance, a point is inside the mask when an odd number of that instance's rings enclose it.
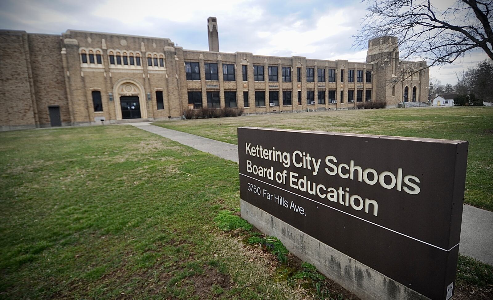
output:
{"label": "cloudy pale blue sky above the school building's roofline", "polygon": [[[432,1],[450,7],[454,0]],[[360,0],[1,0],[0,28],[60,34],[68,29],[167,37],[208,50],[207,18],[217,17],[221,52],[364,62],[351,37],[365,15]],[[455,84],[455,72],[487,56],[479,51],[430,76]]]}

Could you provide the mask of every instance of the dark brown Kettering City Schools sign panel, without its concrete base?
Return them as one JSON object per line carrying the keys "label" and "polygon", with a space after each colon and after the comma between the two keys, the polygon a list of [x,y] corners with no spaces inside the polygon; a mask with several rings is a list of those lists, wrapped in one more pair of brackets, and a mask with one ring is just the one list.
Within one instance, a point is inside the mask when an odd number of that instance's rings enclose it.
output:
{"label": "dark brown Kettering City Schools sign panel, without its concrete base", "polygon": [[238,128],[241,199],[433,300],[454,291],[467,141]]}

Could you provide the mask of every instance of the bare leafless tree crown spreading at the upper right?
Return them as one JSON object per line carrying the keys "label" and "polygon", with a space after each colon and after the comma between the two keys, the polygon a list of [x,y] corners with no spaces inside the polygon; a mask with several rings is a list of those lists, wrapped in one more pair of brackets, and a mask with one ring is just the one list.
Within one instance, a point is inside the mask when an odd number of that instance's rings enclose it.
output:
{"label": "bare leafless tree crown spreading at the upper right", "polygon": [[424,59],[429,66],[451,64],[480,48],[493,60],[493,0],[458,0],[445,10],[429,0],[363,0],[370,2],[354,46],[372,38],[397,36],[401,57]]}

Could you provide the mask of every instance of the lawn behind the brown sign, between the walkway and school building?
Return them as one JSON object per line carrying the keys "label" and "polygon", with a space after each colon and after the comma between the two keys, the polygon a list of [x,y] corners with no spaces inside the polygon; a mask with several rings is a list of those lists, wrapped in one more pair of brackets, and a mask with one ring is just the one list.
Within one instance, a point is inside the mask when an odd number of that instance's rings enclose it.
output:
{"label": "lawn behind the brown sign, between the walkway and school building", "polygon": [[464,202],[493,211],[492,107],[339,110],[154,124],[232,144],[241,126],[468,140]]}

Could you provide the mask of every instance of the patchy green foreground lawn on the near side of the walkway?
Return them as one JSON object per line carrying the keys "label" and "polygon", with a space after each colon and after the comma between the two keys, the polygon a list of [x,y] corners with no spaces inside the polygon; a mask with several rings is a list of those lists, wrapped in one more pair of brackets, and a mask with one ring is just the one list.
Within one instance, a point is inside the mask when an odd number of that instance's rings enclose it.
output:
{"label": "patchy green foreground lawn on the near side of the walkway", "polygon": [[[356,299],[256,244],[234,163],[131,126],[0,140],[0,299]],[[492,281],[459,257],[457,299]]]}

